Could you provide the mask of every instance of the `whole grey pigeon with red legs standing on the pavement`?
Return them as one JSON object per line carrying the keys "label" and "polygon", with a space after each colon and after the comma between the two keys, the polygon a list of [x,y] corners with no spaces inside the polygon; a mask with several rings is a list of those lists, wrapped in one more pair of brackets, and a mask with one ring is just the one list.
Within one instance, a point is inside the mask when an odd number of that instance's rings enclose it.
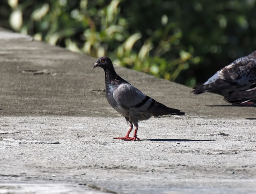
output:
{"label": "whole grey pigeon with red legs standing on the pavement", "polygon": [[[106,97],[108,103],[118,113],[125,117],[129,125],[126,136],[114,139],[126,141],[140,140],[137,136],[139,121],[148,120],[151,116],[185,114],[185,112],[181,112],[178,109],[169,108],[164,104],[157,102],[118,76],[110,58],[105,56],[98,58],[92,69],[96,67],[103,68],[105,72]],[[129,137],[133,126],[135,126],[134,136]]]}

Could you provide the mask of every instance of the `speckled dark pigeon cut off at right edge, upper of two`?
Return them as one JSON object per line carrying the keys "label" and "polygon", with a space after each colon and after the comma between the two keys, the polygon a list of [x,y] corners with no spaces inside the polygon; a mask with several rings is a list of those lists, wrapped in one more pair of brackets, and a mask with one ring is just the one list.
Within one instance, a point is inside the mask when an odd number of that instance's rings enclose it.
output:
{"label": "speckled dark pigeon cut off at right edge, upper of two", "polygon": [[204,84],[194,87],[194,94],[209,91],[226,96],[228,92],[246,90],[256,80],[256,51],[234,60]]}

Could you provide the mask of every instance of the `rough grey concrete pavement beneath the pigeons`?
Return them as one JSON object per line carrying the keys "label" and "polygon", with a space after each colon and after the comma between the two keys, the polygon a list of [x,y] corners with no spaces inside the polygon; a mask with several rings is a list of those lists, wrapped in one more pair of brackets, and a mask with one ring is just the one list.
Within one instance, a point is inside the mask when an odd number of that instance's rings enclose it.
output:
{"label": "rough grey concrete pavement beneath the pigeons", "polygon": [[116,67],[186,116],[139,123],[108,104],[96,59],[0,29],[0,193],[253,193],[256,109]]}

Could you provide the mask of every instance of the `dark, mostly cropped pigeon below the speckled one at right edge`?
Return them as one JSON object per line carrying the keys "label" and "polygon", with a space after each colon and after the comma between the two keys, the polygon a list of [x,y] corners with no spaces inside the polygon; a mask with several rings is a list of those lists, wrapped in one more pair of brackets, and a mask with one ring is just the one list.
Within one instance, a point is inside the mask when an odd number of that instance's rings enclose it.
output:
{"label": "dark, mostly cropped pigeon below the speckled one at right edge", "polygon": [[232,91],[225,96],[224,100],[232,103],[232,104],[243,104],[246,102],[256,102],[256,82],[254,82],[250,89],[248,90],[240,90],[240,91]]}

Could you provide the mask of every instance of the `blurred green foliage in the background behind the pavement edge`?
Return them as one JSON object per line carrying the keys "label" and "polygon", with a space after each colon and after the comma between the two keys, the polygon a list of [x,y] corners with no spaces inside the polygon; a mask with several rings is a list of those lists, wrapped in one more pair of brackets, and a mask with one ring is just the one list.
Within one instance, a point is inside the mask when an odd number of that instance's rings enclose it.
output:
{"label": "blurred green foliage in the background behind the pavement edge", "polygon": [[187,86],[256,47],[256,0],[3,0],[0,26]]}

